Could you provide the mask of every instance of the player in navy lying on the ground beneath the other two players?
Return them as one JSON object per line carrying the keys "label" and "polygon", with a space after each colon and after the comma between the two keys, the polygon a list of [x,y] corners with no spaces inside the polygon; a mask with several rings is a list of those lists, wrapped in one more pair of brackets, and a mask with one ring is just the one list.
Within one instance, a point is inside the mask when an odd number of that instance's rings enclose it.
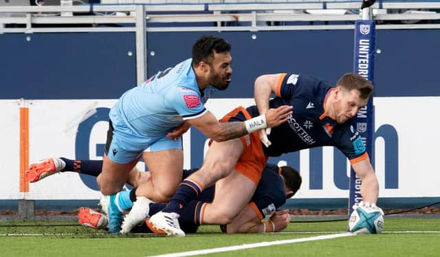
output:
{"label": "player in navy lying on the ground beneath the other two players", "polygon": [[[50,159],[52,159],[52,162],[64,163],[64,168],[58,170],[58,172],[78,172],[97,177],[102,168],[102,161],[99,160],[72,160],[64,157]],[[182,177],[185,179],[196,170],[197,168],[183,170]],[[57,172],[52,172],[51,175],[56,173]],[[131,186],[139,186],[150,180],[150,172],[142,172],[137,170],[137,168],[133,168],[127,183],[130,183]],[[285,229],[290,221],[289,210],[281,210],[278,212],[276,212],[276,210],[285,203],[287,198],[292,197],[298,191],[301,182],[302,179],[294,168],[267,164],[250,203],[246,205],[240,214],[229,224],[222,225],[222,231],[228,233],[259,233],[279,232]],[[201,210],[210,205],[213,199],[214,186],[203,190],[195,201],[188,204],[184,213],[179,218],[182,230],[187,233],[197,232],[199,225],[203,224],[203,216],[201,215],[203,212],[201,212]],[[106,205],[108,205],[108,203],[101,201],[101,205],[102,210],[106,212]],[[159,210],[162,210],[165,206],[165,203],[148,203],[148,216],[159,212]],[[131,214],[132,212],[127,215],[126,221],[130,221]],[[266,221],[263,222],[263,219],[266,219]],[[143,221],[143,219],[141,220]],[[109,223],[106,214],[96,212],[89,208],[79,209],[78,221],[87,227],[100,229],[106,229]],[[154,230],[148,221],[146,221],[144,226],[139,227],[137,225],[138,223],[125,222],[122,225],[122,234],[131,232],[133,228],[136,232],[146,232],[146,230],[148,230],[146,225],[148,225],[149,230],[161,233],[159,230]]]}

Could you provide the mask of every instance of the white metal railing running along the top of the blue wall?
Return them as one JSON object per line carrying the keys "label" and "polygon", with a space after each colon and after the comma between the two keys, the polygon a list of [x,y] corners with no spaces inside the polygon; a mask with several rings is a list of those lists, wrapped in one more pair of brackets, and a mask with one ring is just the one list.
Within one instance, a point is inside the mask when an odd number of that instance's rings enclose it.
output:
{"label": "white metal railing running along the top of the blue wall", "polygon": [[[144,12],[147,32],[353,29],[359,8],[359,1],[0,7],[0,33],[134,32],[137,12]],[[402,8],[429,11],[393,12]],[[440,28],[437,1],[382,2],[371,10],[379,30]]]}

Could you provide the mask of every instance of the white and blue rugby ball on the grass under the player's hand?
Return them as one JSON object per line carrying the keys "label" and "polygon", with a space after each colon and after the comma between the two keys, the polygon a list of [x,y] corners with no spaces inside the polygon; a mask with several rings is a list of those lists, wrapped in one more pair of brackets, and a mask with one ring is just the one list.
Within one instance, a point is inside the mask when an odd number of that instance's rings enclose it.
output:
{"label": "white and blue rugby ball on the grass under the player's hand", "polygon": [[355,234],[377,234],[384,230],[384,211],[375,204],[353,205],[349,230]]}

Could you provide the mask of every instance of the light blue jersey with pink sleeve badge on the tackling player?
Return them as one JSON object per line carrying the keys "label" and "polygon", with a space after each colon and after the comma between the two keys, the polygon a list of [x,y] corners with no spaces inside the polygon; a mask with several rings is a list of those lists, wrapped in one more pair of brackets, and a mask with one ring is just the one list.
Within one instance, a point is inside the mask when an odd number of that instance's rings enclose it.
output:
{"label": "light blue jersey with pink sleeve badge on the tackling player", "polygon": [[[161,137],[184,120],[199,118],[207,110],[197,85],[192,59],[159,71],[140,87],[126,91],[110,112],[122,117],[135,133]],[[118,120],[115,118],[114,120]]]}

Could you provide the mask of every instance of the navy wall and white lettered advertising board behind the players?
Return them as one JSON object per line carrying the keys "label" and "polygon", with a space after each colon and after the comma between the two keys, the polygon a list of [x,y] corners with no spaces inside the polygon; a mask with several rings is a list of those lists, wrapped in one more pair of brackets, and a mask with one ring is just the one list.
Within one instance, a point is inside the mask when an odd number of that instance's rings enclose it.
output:
{"label": "navy wall and white lettered advertising board behind the players", "polygon": [[[148,76],[189,58],[201,34],[148,32]],[[232,43],[230,88],[212,93],[207,104],[219,118],[239,104],[253,104],[253,82],[261,74],[311,74],[335,83],[353,69],[351,30],[212,34]],[[440,198],[434,165],[440,121],[432,119],[440,107],[439,36],[440,30],[377,31],[373,162],[384,208]],[[42,208],[98,199],[94,178],[69,172],[29,185],[23,167],[52,156],[102,158],[109,108],[135,86],[134,33],[0,34],[0,42],[0,210],[17,199],[36,199]],[[191,130],[184,148],[184,166],[200,166],[206,137]],[[347,207],[349,164],[338,150],[314,148],[270,161],[287,162],[303,175],[294,206]]]}

